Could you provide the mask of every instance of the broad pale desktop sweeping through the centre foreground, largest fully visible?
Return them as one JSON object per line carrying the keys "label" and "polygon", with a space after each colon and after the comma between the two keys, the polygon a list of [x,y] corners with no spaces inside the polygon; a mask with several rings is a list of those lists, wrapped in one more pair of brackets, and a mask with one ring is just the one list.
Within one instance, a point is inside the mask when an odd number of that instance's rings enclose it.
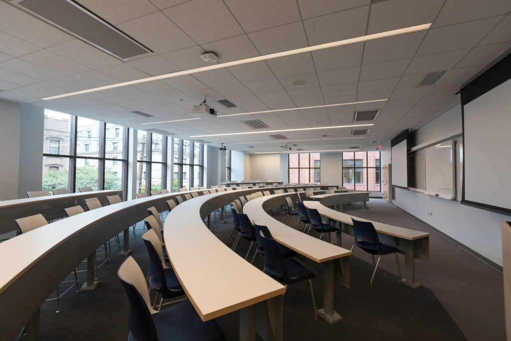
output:
{"label": "broad pale desktop sweeping through the centre foreground, largest fully visible", "polygon": [[204,225],[199,215],[201,206],[230,193],[233,192],[185,201],[173,209],[165,221],[169,259],[202,321],[285,292],[284,285],[238,256]]}

